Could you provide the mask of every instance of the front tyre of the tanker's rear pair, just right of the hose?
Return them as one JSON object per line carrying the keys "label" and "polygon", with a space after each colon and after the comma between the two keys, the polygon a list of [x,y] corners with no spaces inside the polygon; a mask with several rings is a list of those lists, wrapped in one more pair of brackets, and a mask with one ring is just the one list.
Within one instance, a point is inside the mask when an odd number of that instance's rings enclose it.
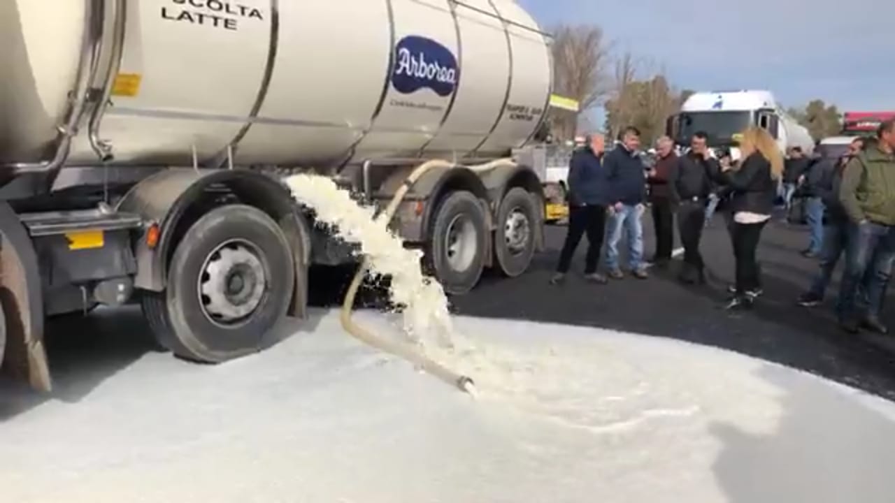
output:
{"label": "front tyre of the tanker's rear pair, just right of the hose", "polygon": [[465,294],[482,277],[488,247],[485,210],[472,192],[451,192],[432,220],[427,262],[447,294]]}

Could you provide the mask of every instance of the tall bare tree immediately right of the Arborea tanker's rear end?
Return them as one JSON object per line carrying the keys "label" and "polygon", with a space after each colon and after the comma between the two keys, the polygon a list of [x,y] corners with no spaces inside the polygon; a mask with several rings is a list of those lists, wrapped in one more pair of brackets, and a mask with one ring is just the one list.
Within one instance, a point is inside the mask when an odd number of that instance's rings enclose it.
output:
{"label": "tall bare tree immediately right of the Arborea tanker's rear end", "polygon": [[609,91],[605,74],[609,47],[596,25],[560,25],[553,34],[554,90],[580,104],[577,114],[554,115],[554,136],[571,140],[578,116],[600,105]]}

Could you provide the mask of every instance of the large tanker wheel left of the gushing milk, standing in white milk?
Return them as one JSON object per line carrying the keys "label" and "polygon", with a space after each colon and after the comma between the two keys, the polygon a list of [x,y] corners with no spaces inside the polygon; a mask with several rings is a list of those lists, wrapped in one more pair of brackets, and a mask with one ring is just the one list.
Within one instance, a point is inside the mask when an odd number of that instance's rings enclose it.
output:
{"label": "large tanker wheel left of the gushing milk, standing in white milk", "polygon": [[228,205],[200,217],[177,244],[164,292],[143,312],[159,344],[185,359],[256,353],[286,317],[295,282],[286,235],[260,209]]}

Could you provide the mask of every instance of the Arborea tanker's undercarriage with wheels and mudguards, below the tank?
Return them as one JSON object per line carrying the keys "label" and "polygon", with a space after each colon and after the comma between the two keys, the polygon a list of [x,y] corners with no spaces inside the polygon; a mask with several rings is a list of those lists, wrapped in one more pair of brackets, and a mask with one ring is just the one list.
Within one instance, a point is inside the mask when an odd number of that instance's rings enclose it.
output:
{"label": "Arborea tanker's undercarriage with wheels and mudguards, below the tank", "polygon": [[[420,159],[345,166],[335,180],[384,206]],[[318,226],[275,166],[64,166],[0,189],[0,361],[31,387],[52,388],[48,317],[139,302],[158,345],[224,362],[262,349],[286,317],[306,315],[308,268],[357,260]],[[50,183],[48,190],[46,183]],[[448,294],[483,269],[508,277],[542,248],[544,195],[528,166],[433,169],[392,226]]]}

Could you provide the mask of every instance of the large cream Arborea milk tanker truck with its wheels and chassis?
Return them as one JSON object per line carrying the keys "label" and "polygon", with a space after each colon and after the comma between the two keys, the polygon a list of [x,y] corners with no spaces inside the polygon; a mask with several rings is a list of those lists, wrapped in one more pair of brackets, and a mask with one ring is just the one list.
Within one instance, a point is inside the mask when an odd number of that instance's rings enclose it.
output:
{"label": "large cream Arborea milk tanker truck with its wheels and chassis", "polygon": [[0,360],[34,388],[49,317],[139,302],[199,362],[303,318],[309,265],[357,259],[285,175],[380,204],[449,160],[393,226],[451,294],[541,246],[533,169],[468,167],[548,107],[549,39],[511,0],[6,0],[0,40]]}

